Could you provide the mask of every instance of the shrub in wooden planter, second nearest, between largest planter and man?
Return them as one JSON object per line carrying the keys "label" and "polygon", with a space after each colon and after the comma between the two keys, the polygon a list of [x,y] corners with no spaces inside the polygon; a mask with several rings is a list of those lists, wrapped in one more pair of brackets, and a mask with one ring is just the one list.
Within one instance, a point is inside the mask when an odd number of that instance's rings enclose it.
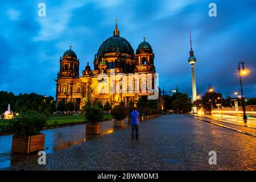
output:
{"label": "shrub in wooden planter, second nearest, between largest planter and man", "polygon": [[86,125],[86,134],[101,133],[101,125],[99,122],[103,120],[104,111],[97,105],[85,107],[85,117],[89,124]]}

